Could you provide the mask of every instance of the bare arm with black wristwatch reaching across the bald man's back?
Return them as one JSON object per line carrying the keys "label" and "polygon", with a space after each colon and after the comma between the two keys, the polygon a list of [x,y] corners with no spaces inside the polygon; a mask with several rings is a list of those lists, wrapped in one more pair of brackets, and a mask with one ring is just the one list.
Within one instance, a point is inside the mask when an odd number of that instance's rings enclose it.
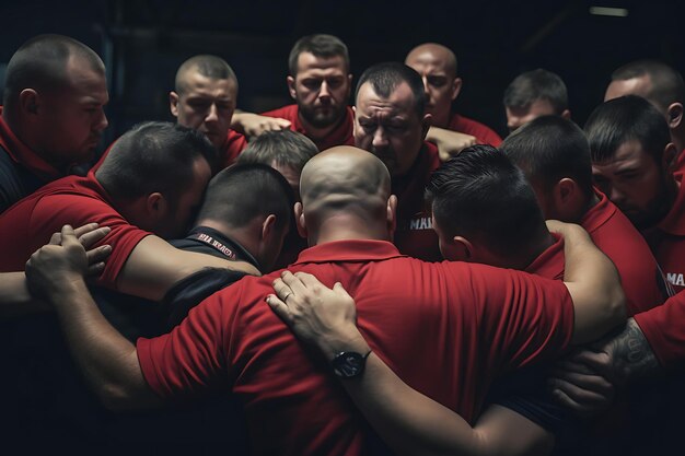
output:
{"label": "bare arm with black wristwatch reaching across the bald man's back", "polygon": [[[361,336],[360,336],[361,338]],[[363,339],[332,351],[368,351]],[[328,342],[333,347],[334,342]],[[554,436],[503,407],[490,407],[472,428],[460,414],[413,389],[371,353],[360,378],[341,381],[352,401],[397,454],[406,455],[547,455]]]}

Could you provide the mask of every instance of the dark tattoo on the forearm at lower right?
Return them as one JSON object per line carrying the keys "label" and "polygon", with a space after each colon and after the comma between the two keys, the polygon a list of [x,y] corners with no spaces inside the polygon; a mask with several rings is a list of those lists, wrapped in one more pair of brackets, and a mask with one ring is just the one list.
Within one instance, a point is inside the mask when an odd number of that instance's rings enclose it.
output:
{"label": "dark tattoo on the forearm at lower right", "polygon": [[608,349],[613,352],[612,370],[623,382],[651,376],[660,370],[654,352],[632,318],[612,339]]}

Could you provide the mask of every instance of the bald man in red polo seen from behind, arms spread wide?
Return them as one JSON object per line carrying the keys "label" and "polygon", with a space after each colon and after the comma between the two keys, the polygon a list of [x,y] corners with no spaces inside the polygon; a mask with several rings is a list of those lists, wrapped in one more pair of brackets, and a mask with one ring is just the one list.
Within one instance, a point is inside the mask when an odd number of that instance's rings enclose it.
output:
{"label": "bald man in red polo seen from behind, arms spread wide", "polygon": [[[578,269],[567,265],[574,279],[566,283],[399,254],[388,242],[396,206],[391,175],[368,152],[339,147],[314,156],[302,172],[301,195],[298,227],[312,247],[292,269],[316,273],[327,287],[340,282],[357,299],[359,326],[374,352],[467,420],[496,375],[571,339],[596,337],[622,318],[623,300],[608,297],[619,290],[615,270],[588,246]],[[305,351],[264,302],[279,273],[245,278],[205,300],[171,334],[132,344],[92,302],[81,278],[84,254],[70,229],[62,237],[65,247],[33,256],[30,287],[69,321],[72,353],[105,405],[140,408],[228,386],[244,404],[253,454],[379,454],[333,377],[353,381],[370,353]],[[589,326],[589,313],[611,317]]]}

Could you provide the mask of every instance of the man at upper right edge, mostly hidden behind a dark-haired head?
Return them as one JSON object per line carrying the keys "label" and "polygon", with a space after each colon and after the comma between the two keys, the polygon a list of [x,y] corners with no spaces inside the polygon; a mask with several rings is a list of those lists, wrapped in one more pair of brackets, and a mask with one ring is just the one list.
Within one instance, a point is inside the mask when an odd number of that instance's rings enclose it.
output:
{"label": "man at upper right edge, mostly hidden behind a dark-haired head", "polygon": [[604,101],[625,95],[646,98],[661,112],[669,124],[671,140],[677,149],[673,167],[685,169],[685,83],[683,77],[667,65],[655,60],[636,60],[612,73]]}

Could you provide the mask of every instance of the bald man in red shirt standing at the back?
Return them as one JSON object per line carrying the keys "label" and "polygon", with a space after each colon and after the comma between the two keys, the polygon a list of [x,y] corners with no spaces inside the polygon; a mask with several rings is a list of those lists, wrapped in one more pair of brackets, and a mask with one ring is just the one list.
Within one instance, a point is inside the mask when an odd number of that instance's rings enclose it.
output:
{"label": "bald man in red shirt standing at the back", "polygon": [[[429,141],[440,147],[444,133],[440,130],[446,129],[474,137],[473,143],[498,147],[502,142],[489,127],[452,112],[452,102],[462,91],[462,78],[457,75],[456,56],[452,50],[437,43],[425,43],[407,54],[405,63],[423,80],[428,97],[426,110],[433,117]],[[464,147],[473,143],[464,142]]]}

